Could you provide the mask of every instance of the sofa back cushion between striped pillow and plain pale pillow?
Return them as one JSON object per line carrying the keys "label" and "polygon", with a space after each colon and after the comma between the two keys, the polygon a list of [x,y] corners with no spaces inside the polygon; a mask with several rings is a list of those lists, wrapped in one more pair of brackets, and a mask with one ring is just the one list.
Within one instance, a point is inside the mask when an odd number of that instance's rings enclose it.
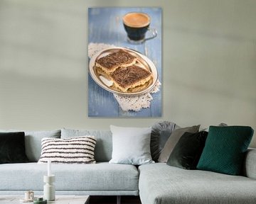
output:
{"label": "sofa back cushion between striped pillow and plain pale pillow", "polygon": [[70,138],[85,135],[96,137],[95,160],[96,162],[109,162],[112,158],[112,132],[110,130],[73,130],[61,129],[60,138]]}

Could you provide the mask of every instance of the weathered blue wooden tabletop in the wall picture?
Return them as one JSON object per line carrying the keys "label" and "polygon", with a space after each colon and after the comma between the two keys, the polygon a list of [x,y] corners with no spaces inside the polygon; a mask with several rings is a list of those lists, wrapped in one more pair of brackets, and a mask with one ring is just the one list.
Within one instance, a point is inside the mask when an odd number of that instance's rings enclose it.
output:
{"label": "weathered blue wooden tabletop in the wall picture", "polygon": [[[122,25],[122,16],[131,11],[142,11],[151,17],[152,28],[156,28],[157,37],[143,44],[132,45]],[[141,52],[156,66],[161,82],[161,8],[89,8],[88,42],[105,43],[117,47],[128,47]],[[89,59],[90,60],[90,59]],[[89,117],[161,117],[161,88],[151,94],[153,100],[149,108],[141,111],[122,111],[113,94],[102,89],[88,74],[88,116]]]}

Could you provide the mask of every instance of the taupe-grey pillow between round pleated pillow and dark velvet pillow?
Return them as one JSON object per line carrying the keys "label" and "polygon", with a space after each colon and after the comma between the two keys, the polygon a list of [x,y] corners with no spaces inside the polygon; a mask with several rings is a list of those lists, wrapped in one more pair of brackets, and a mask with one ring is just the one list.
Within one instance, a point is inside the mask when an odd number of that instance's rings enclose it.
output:
{"label": "taupe-grey pillow between round pleated pillow and dark velvet pillow", "polygon": [[169,139],[166,141],[166,144],[164,145],[164,149],[161,151],[161,154],[159,155],[159,162],[163,162],[163,163],[167,162],[175,145],[177,144],[178,140],[181,138],[181,136],[185,132],[196,133],[198,132],[199,127],[200,125],[194,125],[192,127],[178,128],[177,130],[174,130],[171,133]]}

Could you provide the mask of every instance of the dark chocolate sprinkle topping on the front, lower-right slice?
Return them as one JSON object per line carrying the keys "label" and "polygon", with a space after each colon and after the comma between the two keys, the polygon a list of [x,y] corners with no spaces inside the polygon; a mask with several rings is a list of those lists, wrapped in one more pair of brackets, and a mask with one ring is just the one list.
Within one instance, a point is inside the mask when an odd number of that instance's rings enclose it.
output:
{"label": "dark chocolate sprinkle topping on the front, lower-right slice", "polygon": [[132,65],[129,67],[120,67],[111,74],[111,77],[117,82],[117,84],[119,84],[119,86],[125,88],[136,83],[137,81],[146,79],[146,77],[149,77],[150,75],[151,73],[146,69]]}

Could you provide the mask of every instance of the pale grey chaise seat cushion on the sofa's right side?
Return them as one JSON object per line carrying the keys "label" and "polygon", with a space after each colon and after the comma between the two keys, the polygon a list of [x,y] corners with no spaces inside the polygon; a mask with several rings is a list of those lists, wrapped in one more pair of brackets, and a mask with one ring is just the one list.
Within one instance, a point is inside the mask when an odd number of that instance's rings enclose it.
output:
{"label": "pale grey chaise seat cushion on the sofa's right side", "polygon": [[139,166],[142,204],[254,203],[256,180],[163,163]]}

